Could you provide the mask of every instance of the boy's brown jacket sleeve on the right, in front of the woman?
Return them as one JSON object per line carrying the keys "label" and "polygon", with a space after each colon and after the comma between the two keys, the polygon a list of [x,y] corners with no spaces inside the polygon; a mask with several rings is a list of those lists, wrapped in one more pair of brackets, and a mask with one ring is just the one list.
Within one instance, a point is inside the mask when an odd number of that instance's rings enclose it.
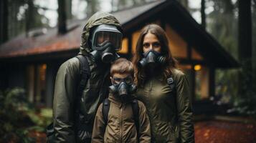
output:
{"label": "boy's brown jacket sleeve on the right, in front of the woman", "polygon": [[140,122],[140,129],[139,129],[139,142],[151,142],[151,127],[150,127],[150,122],[148,119],[148,114],[146,112],[146,107],[145,105],[138,101],[138,106],[139,106],[139,122]]}

